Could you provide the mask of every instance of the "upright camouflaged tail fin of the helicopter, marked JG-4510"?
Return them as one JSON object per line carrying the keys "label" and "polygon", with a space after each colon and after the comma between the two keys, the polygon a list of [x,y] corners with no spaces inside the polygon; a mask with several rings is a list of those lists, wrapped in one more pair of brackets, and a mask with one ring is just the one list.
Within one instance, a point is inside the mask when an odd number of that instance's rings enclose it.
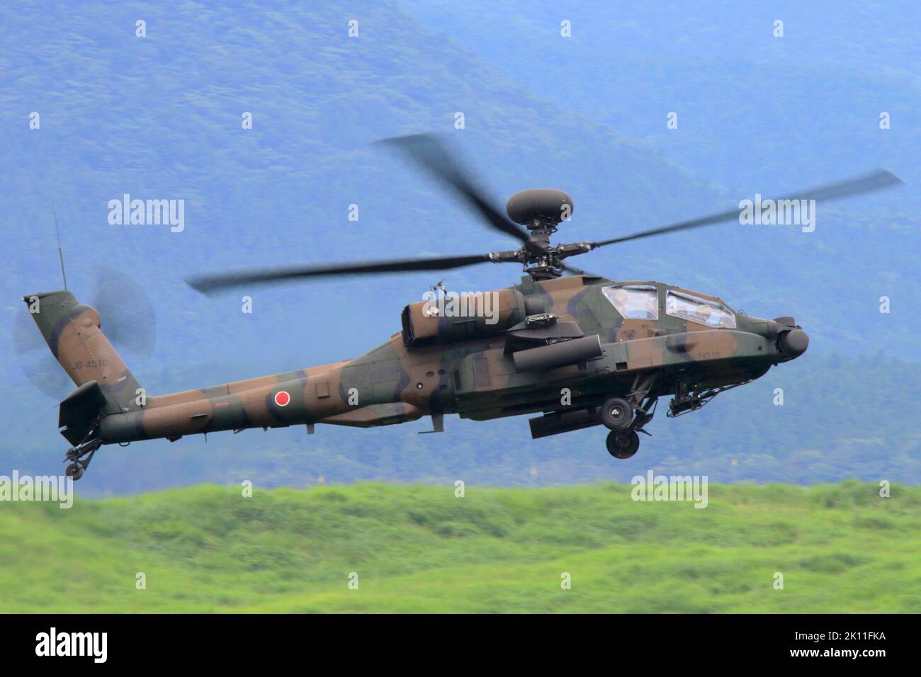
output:
{"label": "upright camouflaged tail fin of the helicopter, marked JG-4510", "polygon": [[80,303],[69,291],[43,292],[22,300],[53,356],[74,383],[78,387],[91,381],[99,385],[103,414],[139,408],[136,398],[140,385],[99,329],[96,309]]}

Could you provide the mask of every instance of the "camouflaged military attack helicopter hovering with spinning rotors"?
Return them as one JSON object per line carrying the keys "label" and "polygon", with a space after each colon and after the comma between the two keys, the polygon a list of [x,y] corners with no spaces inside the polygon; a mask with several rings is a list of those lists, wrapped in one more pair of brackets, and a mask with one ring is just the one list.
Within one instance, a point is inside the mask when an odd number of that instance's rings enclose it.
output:
{"label": "camouflaged military attack helicopter hovering with spinning rotors", "polygon": [[[611,239],[554,244],[554,233],[573,212],[568,193],[515,193],[502,214],[437,135],[377,143],[410,159],[487,227],[517,239],[518,248],[275,267],[187,282],[215,294],[335,275],[519,263],[519,284],[465,299],[446,298],[439,283],[431,298],[402,309],[400,332],[362,356],[157,396],[146,395],[102,333],[96,309],[66,288],[26,296],[52,355],[77,386],[59,409],[60,432],[72,445],[65,457],[68,476],[79,479],[106,444],[295,425],[313,434],[317,424],[389,426],[423,416],[432,422],[426,432],[440,433],[446,414],[476,421],[537,414],[529,421],[535,439],[603,426],[607,451],[629,459],[639,449],[639,434],[649,435],[659,398],[670,397],[669,417],[694,412],[809,347],[809,335],[791,316],[750,317],[682,286],[614,281],[567,263],[600,247],[736,219],[738,209]],[[878,169],[782,199],[824,202],[900,183]]]}

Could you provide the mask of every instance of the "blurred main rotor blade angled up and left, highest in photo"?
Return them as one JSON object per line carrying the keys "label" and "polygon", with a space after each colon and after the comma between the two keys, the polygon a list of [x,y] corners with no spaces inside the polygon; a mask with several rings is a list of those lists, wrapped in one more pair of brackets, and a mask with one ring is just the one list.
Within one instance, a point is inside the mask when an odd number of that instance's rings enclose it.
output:
{"label": "blurred main rotor blade angled up and left, highest in photo", "polygon": [[528,231],[490,204],[483,191],[470,179],[469,173],[461,165],[461,160],[435,134],[391,136],[375,143],[402,151],[420,169],[460,196],[474,213],[483,217],[488,226],[522,242],[528,241]]}

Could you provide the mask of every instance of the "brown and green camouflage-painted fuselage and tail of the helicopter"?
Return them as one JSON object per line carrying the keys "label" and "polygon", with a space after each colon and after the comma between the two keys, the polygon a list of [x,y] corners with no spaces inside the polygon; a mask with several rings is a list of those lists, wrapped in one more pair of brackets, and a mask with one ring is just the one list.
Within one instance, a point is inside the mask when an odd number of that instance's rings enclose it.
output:
{"label": "brown and green camouflage-painted fuselage and tail of the helicopter", "polygon": [[[658,320],[624,319],[602,293],[602,287],[612,285],[655,287]],[[404,333],[395,333],[352,360],[147,396],[143,405],[138,397],[141,387],[99,329],[95,309],[78,303],[68,291],[23,300],[29,304],[38,298],[39,312],[33,318],[62,367],[78,387],[83,386],[68,398],[73,399],[70,405],[64,406],[68,400],[62,405],[62,435],[77,444],[98,420],[94,434],[103,444],[111,444],[254,427],[308,425],[312,432],[317,423],[386,426],[428,414],[487,420],[560,412],[625,397],[637,375],[655,374],[648,394],[659,397],[673,394],[679,379],[698,388],[744,383],[791,358],[778,348],[774,322],[734,311],[734,329],[682,320],[665,311],[669,289],[681,287],[613,283],[594,275],[542,281],[525,276],[519,285],[497,292],[495,325],[482,319],[426,317],[420,313],[421,302],[415,303],[404,310],[404,331],[406,322],[412,322],[416,334],[427,334],[428,344],[408,346]],[[518,327],[527,334],[523,321],[535,312],[553,313],[558,324],[575,322],[585,336],[597,335],[600,357],[519,372],[506,350],[507,332]],[[96,391],[93,381],[102,393],[97,403],[81,394]],[[561,404],[564,388],[572,393],[568,407]],[[288,395],[286,403],[284,396],[276,401],[281,391]]]}

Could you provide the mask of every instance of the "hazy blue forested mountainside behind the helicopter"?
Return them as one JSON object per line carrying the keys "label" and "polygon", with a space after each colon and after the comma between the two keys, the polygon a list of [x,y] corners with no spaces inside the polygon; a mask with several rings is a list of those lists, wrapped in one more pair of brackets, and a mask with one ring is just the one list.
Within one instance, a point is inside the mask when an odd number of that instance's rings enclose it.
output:
{"label": "hazy blue forested mountainside behind the helicopter", "polygon": [[[919,19],[907,2],[6,7],[0,473],[63,468],[57,402],[24,376],[12,329],[25,312],[19,298],[61,286],[52,199],[70,288],[90,301],[99,266],[130,275],[155,310],[157,347],[146,360],[125,357],[148,391],[184,390],[357,356],[398,331],[402,307],[441,277],[455,290],[518,281],[515,266],[486,264],[290,284],[256,291],[251,314],[239,295],[204,298],[185,284],[230,268],[510,249],[371,145],[441,132],[497,205],[530,187],[571,193],[562,241],[878,167],[905,184],[820,206],[812,233],[729,223],[578,260],[614,279],[716,294],[752,315],[793,315],[810,333],[796,362],[699,413],[660,416],[629,461],[612,461],[599,428],[531,440],[523,417],[451,418],[434,436],[417,435],[420,421],[107,447],[81,490],[243,479],[570,484],[648,468],[714,481],[917,483]],[[670,112],[677,129],[667,128]],[[185,200],[185,229],[110,225],[107,205],[124,193]],[[881,297],[891,312],[880,312]]]}

